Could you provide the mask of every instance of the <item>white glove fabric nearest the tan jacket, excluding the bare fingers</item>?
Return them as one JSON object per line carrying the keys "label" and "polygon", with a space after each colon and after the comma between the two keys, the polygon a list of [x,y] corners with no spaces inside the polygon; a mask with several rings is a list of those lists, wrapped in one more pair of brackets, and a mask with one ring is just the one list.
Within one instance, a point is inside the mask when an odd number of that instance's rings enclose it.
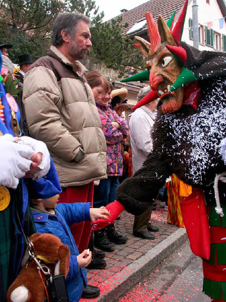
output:
{"label": "white glove fabric nearest the tan jacket, excluding the bare fingers", "polygon": [[35,153],[42,153],[42,160],[41,162],[37,165],[37,167],[40,169],[40,171],[35,172],[33,176],[33,180],[37,180],[43,176],[45,176],[50,168],[50,158],[49,158],[49,151],[46,147],[46,144],[41,142],[40,140],[35,140],[31,137],[27,136],[22,136],[20,137],[20,140],[25,145],[30,146]]}

